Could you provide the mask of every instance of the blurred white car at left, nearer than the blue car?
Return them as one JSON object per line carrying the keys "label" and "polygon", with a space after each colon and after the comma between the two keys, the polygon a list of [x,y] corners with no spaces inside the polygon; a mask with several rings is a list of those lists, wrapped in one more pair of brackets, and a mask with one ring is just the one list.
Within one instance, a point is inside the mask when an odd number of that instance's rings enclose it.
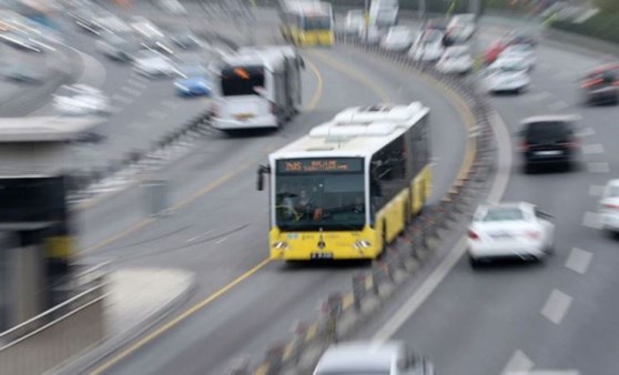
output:
{"label": "blurred white car at left, nearer than the blue car", "polygon": [[64,85],[53,98],[55,110],[65,115],[109,114],[110,99],[100,90],[85,85]]}

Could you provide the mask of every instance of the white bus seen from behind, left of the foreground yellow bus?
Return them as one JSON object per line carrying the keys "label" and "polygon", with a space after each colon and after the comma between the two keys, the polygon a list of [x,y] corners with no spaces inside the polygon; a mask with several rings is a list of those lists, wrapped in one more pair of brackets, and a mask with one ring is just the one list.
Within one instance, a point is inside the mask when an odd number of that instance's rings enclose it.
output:
{"label": "white bus seen from behind, left of the foreground yellow bus", "polygon": [[304,68],[287,45],[242,48],[224,57],[214,74],[213,128],[280,128],[301,111]]}

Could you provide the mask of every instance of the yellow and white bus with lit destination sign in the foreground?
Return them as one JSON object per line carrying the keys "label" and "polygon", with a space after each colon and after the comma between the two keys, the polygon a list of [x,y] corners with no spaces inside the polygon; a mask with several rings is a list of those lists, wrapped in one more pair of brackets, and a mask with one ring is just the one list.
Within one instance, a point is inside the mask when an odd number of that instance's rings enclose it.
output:
{"label": "yellow and white bus with lit destination sign in the foreground", "polygon": [[376,259],[430,194],[428,108],[349,108],[273,152],[271,259]]}

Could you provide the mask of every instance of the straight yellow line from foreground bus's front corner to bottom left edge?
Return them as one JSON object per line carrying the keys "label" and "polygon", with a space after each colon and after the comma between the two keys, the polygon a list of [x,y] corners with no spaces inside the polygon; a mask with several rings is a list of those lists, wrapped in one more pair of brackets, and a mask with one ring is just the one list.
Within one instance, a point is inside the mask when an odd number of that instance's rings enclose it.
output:
{"label": "straight yellow line from foreground bus's front corner to bottom left edge", "polygon": [[270,259],[263,260],[256,266],[254,266],[252,270],[250,270],[250,271],[245,272],[244,274],[242,274],[241,276],[236,277],[230,284],[225,285],[224,287],[222,287],[221,290],[219,290],[217,292],[215,292],[214,294],[212,294],[207,298],[203,300],[202,302],[200,302],[196,305],[192,306],[191,308],[186,310],[181,315],[179,315],[175,318],[173,318],[172,321],[165,323],[164,325],[156,328],[155,331],[153,331],[152,333],[150,333],[145,337],[143,337],[140,341],[138,341],[136,343],[134,343],[133,345],[129,346],[126,349],[119,353],[112,359],[110,359],[110,361],[105,362],[103,365],[97,367],[91,374],[92,375],[98,375],[98,374],[101,374],[104,371],[109,369],[110,367],[114,366],[116,363],[119,363],[120,361],[122,361],[123,358],[129,356],[131,353],[138,351],[139,348],[144,346],[146,343],[149,343],[152,339],[159,337],[161,334],[163,334],[168,330],[174,327],[175,325],[177,325],[179,323],[181,323],[182,321],[184,321],[189,316],[195,314],[196,312],[199,312],[203,307],[211,304],[213,301],[217,300],[220,296],[227,293],[227,291],[232,290],[234,286],[239,285],[241,282],[243,282],[244,280],[246,280],[247,277],[250,277],[254,273],[258,272],[261,268],[263,268],[270,262],[271,262]]}

